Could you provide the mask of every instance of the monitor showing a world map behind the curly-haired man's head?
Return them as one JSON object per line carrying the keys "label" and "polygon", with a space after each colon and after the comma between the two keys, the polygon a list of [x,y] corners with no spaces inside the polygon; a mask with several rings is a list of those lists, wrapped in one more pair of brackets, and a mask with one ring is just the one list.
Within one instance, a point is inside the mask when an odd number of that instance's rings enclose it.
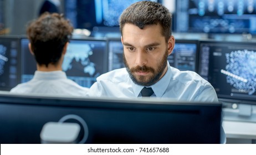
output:
{"label": "monitor showing a world map behind the curly-haired man's head", "polygon": [[[29,40],[21,39],[22,82],[33,78],[36,61],[28,49]],[[71,39],[64,56],[63,71],[69,79],[84,87],[90,87],[96,77],[107,71],[107,51],[105,39]]]}

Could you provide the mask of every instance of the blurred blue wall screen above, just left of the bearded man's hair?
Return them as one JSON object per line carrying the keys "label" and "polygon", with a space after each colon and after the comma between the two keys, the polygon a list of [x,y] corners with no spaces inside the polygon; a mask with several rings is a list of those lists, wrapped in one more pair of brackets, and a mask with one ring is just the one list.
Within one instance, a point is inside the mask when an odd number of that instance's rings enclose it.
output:
{"label": "blurred blue wall screen above, just left of the bearded man's hair", "polygon": [[[64,14],[75,28],[94,31],[110,31],[116,28],[119,32],[119,16],[125,8],[141,0],[65,0]],[[155,0],[155,2],[157,2]]]}

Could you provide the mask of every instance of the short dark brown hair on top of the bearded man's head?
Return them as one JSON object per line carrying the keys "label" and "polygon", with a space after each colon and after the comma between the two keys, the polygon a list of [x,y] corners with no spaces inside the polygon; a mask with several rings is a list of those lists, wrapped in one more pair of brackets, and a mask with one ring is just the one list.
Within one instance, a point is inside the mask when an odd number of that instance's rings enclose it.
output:
{"label": "short dark brown hair on top of the bearded man's head", "polygon": [[160,3],[140,1],[126,8],[120,16],[120,32],[126,23],[134,24],[140,29],[145,25],[160,24],[166,42],[172,35],[172,14]]}

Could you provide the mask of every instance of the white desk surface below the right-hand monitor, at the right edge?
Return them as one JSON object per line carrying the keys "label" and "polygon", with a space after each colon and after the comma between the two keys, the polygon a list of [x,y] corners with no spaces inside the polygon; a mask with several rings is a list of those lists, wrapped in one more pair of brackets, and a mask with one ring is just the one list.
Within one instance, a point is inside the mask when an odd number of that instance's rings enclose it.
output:
{"label": "white desk surface below the right-hand monitor, at the right edge", "polygon": [[227,138],[256,139],[256,123],[223,120],[222,126]]}

